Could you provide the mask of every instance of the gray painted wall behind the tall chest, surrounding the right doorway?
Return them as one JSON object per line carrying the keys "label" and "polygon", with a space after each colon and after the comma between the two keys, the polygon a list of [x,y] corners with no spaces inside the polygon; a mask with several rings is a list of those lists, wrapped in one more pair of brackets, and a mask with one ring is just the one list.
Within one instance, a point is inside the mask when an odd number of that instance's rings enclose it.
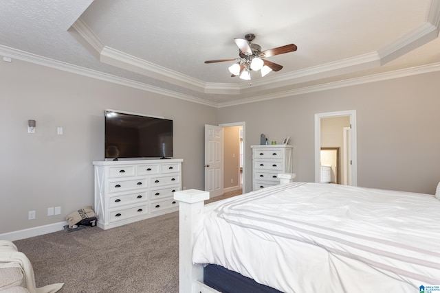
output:
{"label": "gray painted wall behind the tall chest, surrounding the right doorway", "polygon": [[245,121],[245,185],[250,145],[290,136],[296,180],[314,182],[314,115],[356,110],[358,185],[434,194],[440,181],[440,73],[426,73],[219,108],[219,123]]}

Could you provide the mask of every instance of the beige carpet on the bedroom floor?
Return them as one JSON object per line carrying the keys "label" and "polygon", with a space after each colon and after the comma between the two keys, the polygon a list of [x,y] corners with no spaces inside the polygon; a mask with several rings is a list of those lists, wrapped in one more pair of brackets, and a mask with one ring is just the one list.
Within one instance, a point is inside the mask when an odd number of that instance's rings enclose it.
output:
{"label": "beige carpet on the bedroom floor", "polygon": [[30,259],[37,287],[65,283],[58,292],[173,293],[179,291],[178,233],[175,212],[105,231],[59,231],[14,244]]}

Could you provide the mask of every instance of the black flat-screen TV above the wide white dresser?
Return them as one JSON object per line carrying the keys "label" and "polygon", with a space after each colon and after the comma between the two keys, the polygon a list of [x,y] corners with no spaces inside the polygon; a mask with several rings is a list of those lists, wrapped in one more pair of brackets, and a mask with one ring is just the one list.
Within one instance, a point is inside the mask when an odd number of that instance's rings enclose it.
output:
{"label": "black flat-screen TV above the wide white dresser", "polygon": [[105,158],[173,156],[173,120],[105,110]]}

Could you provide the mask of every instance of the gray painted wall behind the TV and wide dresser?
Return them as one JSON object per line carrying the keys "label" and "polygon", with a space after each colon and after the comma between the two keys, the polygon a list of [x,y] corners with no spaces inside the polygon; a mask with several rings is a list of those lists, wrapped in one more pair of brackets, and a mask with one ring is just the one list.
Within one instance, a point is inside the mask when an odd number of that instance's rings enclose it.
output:
{"label": "gray painted wall behind the TV and wide dresser", "polygon": [[[94,204],[92,161],[104,159],[106,108],[173,119],[183,186],[203,189],[204,124],[217,124],[217,108],[19,60],[1,62],[0,80],[0,234],[61,222]],[[48,207],[61,215],[47,216]]]}

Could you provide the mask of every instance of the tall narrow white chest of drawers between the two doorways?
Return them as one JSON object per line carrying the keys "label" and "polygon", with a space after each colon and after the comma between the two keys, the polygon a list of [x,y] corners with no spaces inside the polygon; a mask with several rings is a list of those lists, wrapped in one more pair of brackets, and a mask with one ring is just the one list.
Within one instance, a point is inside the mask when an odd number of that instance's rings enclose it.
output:
{"label": "tall narrow white chest of drawers between the two doorways", "polygon": [[253,190],[280,184],[278,173],[292,173],[292,145],[251,145]]}

